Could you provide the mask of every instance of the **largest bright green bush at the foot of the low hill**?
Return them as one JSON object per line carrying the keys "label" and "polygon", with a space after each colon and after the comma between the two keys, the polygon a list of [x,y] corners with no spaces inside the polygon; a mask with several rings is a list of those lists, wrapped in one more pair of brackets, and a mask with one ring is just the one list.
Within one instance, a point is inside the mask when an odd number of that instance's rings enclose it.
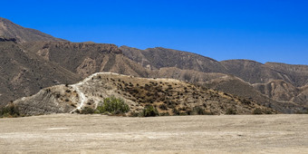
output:
{"label": "largest bright green bush at the foot of the low hill", "polygon": [[126,113],[130,111],[130,107],[122,99],[117,99],[114,96],[104,99],[101,106],[98,106],[96,110],[99,113],[110,112],[112,114]]}

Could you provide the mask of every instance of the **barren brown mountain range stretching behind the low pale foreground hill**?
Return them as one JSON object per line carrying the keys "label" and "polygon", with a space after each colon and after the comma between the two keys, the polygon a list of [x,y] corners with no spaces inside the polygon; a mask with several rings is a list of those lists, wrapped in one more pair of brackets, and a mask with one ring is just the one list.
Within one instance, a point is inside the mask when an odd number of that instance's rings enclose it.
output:
{"label": "barren brown mountain range stretching behind the low pale foreground hill", "polygon": [[218,62],[162,47],[140,50],[107,43],[72,43],[1,17],[0,52],[2,105],[17,99],[23,104],[22,97],[34,98],[35,93],[48,87],[71,85],[95,72],[117,72],[140,77],[140,81],[172,78],[190,82],[225,92],[234,100],[240,98],[283,113],[308,108],[307,65],[250,60]]}

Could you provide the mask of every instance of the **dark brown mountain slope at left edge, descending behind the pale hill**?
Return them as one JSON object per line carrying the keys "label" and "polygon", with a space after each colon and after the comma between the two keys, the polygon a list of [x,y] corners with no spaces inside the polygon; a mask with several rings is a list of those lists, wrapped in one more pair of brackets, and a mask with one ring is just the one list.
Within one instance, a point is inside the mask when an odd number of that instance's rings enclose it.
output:
{"label": "dark brown mountain slope at left edge, descending behind the pale hill", "polygon": [[14,41],[0,42],[0,105],[36,93],[44,87],[81,78],[57,63],[23,49]]}

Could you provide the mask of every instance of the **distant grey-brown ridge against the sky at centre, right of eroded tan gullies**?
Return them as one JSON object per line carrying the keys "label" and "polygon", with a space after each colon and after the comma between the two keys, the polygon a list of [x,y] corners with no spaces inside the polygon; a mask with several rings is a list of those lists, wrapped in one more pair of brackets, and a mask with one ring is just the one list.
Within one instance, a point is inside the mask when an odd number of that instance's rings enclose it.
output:
{"label": "distant grey-brown ridge against the sky at centre, right of eroded tan gullies", "polygon": [[125,56],[150,70],[162,67],[177,67],[182,70],[195,70],[198,72],[226,72],[226,68],[219,62],[196,53],[161,47],[142,51],[136,48],[121,46],[120,50]]}

